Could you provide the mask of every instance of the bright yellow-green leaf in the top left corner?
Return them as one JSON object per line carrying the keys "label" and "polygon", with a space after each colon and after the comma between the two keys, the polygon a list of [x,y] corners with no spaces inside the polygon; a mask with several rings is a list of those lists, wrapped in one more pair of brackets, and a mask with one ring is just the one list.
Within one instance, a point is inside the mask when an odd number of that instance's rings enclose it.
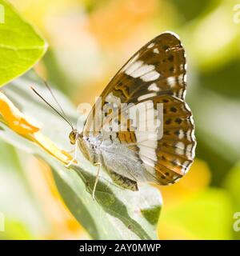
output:
{"label": "bright yellow-green leaf in the top left corner", "polygon": [[0,0],[0,86],[29,70],[46,52],[47,44],[5,0]]}

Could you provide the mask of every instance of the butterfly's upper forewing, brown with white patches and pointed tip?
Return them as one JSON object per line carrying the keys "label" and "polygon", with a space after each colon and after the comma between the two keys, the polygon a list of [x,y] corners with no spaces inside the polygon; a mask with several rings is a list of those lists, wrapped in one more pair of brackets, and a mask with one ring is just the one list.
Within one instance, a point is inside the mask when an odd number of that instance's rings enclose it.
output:
{"label": "butterfly's upper forewing, brown with white patches and pointed tip", "polygon": [[122,102],[136,102],[147,94],[184,98],[186,58],[174,34],[160,34],[138,50],[118,71],[103,94],[113,92]]}

